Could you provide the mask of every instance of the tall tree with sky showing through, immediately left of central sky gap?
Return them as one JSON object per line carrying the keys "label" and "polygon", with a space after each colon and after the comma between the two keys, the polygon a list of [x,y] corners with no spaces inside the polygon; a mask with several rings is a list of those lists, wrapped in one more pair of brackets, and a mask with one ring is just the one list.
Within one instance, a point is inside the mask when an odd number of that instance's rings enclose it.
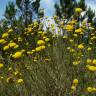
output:
{"label": "tall tree with sky showing through, immediately left of central sky gap", "polygon": [[16,5],[19,14],[21,13],[19,19],[22,20],[27,27],[28,24],[32,23],[32,19],[38,15],[40,0],[16,0]]}

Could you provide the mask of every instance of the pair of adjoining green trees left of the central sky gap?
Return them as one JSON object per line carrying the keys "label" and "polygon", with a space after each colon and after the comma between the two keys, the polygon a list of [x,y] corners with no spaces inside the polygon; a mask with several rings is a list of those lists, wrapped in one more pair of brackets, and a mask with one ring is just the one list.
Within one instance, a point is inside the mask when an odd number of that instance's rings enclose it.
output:
{"label": "pair of adjoining green trees left of the central sky gap", "polygon": [[[9,2],[5,10],[5,18],[11,26],[28,26],[33,18],[39,17],[40,0],[16,0],[16,3]],[[19,24],[20,24],[19,23]]]}

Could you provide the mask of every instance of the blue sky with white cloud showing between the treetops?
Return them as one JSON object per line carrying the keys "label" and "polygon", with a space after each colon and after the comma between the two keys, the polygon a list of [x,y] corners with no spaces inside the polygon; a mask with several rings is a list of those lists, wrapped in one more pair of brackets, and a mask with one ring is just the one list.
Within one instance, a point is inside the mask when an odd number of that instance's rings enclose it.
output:
{"label": "blue sky with white cloud showing between the treetops", "polygon": [[[4,10],[9,1],[14,0],[0,0],[0,19],[3,18]],[[92,9],[96,9],[96,0],[85,0],[88,6],[91,6]],[[57,0],[41,0],[41,7],[45,9],[46,16],[52,16],[55,12],[54,4]]]}

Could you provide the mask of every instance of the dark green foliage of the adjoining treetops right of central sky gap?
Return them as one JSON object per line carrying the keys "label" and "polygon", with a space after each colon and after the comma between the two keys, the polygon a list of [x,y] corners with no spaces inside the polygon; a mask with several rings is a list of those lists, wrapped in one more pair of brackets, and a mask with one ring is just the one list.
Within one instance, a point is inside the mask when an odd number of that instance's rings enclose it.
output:
{"label": "dark green foliage of the adjoining treetops right of central sky gap", "polygon": [[86,10],[85,0],[80,0],[76,2],[76,0],[59,0],[60,4],[55,4],[56,15],[62,18],[70,18],[74,14],[74,10],[76,7],[80,7]]}

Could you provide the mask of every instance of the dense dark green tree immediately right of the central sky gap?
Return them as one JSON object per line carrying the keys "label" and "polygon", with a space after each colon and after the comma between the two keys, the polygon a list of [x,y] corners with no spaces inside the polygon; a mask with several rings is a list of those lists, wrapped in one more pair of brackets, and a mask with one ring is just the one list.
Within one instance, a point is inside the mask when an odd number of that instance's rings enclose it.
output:
{"label": "dense dark green tree immediately right of the central sky gap", "polygon": [[56,15],[62,18],[70,18],[73,15],[74,8],[77,5],[76,0],[59,0],[59,4],[55,4]]}

